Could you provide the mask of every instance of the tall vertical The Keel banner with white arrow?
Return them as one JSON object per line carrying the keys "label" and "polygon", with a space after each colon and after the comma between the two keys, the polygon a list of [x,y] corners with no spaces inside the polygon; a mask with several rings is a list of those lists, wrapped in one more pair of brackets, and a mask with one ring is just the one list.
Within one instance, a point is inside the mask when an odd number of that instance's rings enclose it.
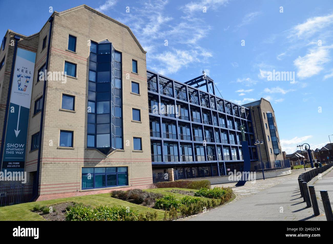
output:
{"label": "tall vertical The Keel banner with white arrow", "polygon": [[36,53],[17,48],[2,171],[24,171]]}

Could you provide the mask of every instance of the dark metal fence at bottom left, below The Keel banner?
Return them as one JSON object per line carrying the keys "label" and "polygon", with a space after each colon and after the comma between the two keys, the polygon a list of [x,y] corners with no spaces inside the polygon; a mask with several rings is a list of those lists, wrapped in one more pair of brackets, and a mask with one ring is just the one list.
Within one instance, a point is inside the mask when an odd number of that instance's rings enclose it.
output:
{"label": "dark metal fence at bottom left, below The Keel banner", "polygon": [[34,184],[4,184],[0,185],[0,207],[26,203],[33,197]]}

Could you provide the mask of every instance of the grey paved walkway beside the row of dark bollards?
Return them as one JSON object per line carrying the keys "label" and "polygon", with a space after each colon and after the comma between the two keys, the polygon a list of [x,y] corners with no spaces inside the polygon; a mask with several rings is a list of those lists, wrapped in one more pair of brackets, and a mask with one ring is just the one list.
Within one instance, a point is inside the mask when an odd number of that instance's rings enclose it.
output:
{"label": "grey paved walkway beside the row of dark bollards", "polygon": [[[310,170],[307,168],[307,171]],[[327,173],[331,171],[330,173]],[[208,220],[311,220],[311,221],[326,221],[324,211],[320,209],[319,216],[313,216],[313,209],[306,208],[306,203],[299,192],[297,177],[301,170],[292,170],[290,175],[268,178],[266,180],[257,180],[251,184],[247,182],[244,186],[235,187],[235,183],[219,184],[217,186],[230,186],[236,193],[237,197],[234,201],[199,214],[194,217],[180,219],[180,221],[208,221]],[[330,186],[330,193],[333,193],[332,168],[326,171],[322,180],[315,183],[316,191],[319,191],[319,186]],[[327,176],[327,177],[326,177]],[[321,185],[321,183],[330,185]],[[318,189],[317,189],[318,188]],[[329,189],[327,189],[329,190]],[[320,198],[319,192],[317,197]],[[331,197],[331,196],[330,196]],[[333,202],[333,197],[331,198]],[[320,205],[319,201],[318,204]]]}

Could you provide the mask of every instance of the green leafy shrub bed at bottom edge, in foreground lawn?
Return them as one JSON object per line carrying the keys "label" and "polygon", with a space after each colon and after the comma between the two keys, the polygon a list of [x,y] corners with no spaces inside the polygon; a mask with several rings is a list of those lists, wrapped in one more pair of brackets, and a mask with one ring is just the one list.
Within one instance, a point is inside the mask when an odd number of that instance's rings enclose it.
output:
{"label": "green leafy shrub bed at bottom edge, in foreground lawn", "polygon": [[85,206],[73,206],[66,211],[66,221],[137,221],[139,214],[133,209],[99,206],[95,209]]}

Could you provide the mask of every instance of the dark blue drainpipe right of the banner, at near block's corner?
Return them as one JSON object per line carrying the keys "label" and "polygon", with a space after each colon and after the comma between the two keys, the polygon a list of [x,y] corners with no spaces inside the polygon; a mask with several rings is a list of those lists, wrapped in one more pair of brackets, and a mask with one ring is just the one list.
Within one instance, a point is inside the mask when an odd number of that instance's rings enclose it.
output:
{"label": "dark blue drainpipe right of the banner, at near block's corner", "polygon": [[[48,70],[49,65],[49,56],[50,56],[50,43],[51,43],[51,31],[53,17],[49,18],[50,30],[49,30],[49,41],[47,44],[47,54],[46,54],[46,71]],[[39,126],[39,147],[38,147],[38,159],[37,159],[37,172],[36,172],[36,184],[34,186],[34,196],[30,200],[32,202],[38,196],[38,187],[39,187],[39,171],[40,171],[40,162],[41,162],[41,149],[42,149],[42,131],[43,131],[43,119],[44,119],[44,109],[45,109],[45,90],[46,90],[47,75],[44,74],[44,87],[43,87],[43,102],[42,102],[42,111],[41,111],[41,122]]]}

